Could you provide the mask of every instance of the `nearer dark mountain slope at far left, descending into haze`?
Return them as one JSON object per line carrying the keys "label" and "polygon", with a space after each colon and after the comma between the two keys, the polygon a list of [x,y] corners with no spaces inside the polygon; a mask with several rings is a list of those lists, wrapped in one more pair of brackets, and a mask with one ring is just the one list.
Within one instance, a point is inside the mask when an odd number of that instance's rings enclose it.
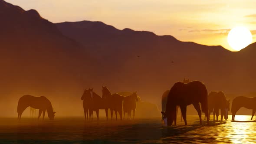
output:
{"label": "nearer dark mountain slope at far left, descending into haze", "polygon": [[36,10],[25,11],[0,0],[0,19],[2,95],[68,89],[79,84],[81,73],[91,71],[87,49]]}

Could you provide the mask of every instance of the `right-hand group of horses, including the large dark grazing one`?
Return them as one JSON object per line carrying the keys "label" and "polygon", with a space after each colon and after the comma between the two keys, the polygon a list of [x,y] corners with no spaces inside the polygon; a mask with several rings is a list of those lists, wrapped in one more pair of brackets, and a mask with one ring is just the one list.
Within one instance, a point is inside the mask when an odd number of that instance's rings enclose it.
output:
{"label": "right-hand group of horses, including the large dark grazing one", "polygon": [[[202,112],[205,114],[207,124],[209,124],[210,113],[213,112],[213,121],[218,121],[219,111],[221,115],[221,121],[228,119],[228,111],[230,111],[230,100],[226,99],[223,92],[212,91],[207,93],[206,86],[199,81],[192,81],[188,83],[177,82],[173,85],[171,90],[164,92],[162,95],[162,119],[165,125],[176,125],[177,119],[177,108],[181,108],[181,115],[184,119],[185,125],[187,125],[187,105],[194,105],[197,110],[200,124],[202,124],[201,115]],[[233,99],[231,112],[232,120],[235,120],[236,112],[241,108],[245,107],[252,109],[252,118],[256,113],[256,97],[247,98],[239,96]],[[200,109],[201,105],[201,109]],[[204,118],[204,120],[205,120]]]}

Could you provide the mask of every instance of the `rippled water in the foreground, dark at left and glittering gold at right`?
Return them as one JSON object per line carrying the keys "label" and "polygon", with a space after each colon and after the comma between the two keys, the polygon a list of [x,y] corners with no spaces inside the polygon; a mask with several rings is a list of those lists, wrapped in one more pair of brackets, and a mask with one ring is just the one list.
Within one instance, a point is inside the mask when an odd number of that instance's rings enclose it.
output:
{"label": "rippled water in the foreground, dark at left and glittering gold at right", "polygon": [[[134,121],[84,121],[84,118],[56,118],[54,121],[0,118],[0,144],[167,144],[167,143],[256,143],[256,121],[236,115],[236,121],[199,124],[196,115],[165,127],[159,118]],[[212,118],[211,118],[212,119]],[[243,121],[243,122],[241,122]]]}

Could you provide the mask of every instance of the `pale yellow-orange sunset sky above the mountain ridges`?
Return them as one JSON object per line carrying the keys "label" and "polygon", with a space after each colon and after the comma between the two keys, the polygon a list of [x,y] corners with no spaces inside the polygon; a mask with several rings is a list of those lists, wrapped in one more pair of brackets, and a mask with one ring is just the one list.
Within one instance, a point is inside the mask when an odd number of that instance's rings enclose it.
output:
{"label": "pale yellow-orange sunset sky above the mountain ridges", "polygon": [[227,43],[230,29],[245,26],[256,42],[256,0],[6,0],[24,10],[35,9],[53,22],[102,21],[171,35],[204,45]]}

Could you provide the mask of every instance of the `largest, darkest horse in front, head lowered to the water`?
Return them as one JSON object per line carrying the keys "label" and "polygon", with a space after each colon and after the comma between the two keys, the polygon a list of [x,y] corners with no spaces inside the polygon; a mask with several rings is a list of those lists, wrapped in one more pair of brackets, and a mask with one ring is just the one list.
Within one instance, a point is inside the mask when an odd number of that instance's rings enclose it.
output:
{"label": "largest, darkest horse in front, head lowered to the water", "polygon": [[164,115],[164,124],[172,125],[173,121],[176,119],[177,105],[180,105],[185,125],[187,125],[187,105],[190,104],[194,105],[200,119],[200,124],[202,124],[202,112],[200,110],[201,104],[202,111],[207,116],[207,124],[209,124],[207,100],[207,89],[202,82],[192,81],[187,84],[182,82],[175,83],[167,96],[166,111],[161,111]]}

